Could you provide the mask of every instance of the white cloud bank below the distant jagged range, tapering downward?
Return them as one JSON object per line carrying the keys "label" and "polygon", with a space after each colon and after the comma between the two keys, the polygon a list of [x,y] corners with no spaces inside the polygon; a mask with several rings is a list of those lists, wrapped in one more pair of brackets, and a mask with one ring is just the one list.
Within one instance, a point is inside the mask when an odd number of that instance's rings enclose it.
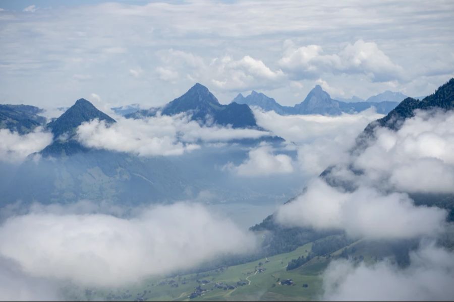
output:
{"label": "white cloud bank below the distant jagged range, tapering downward", "polygon": [[298,162],[307,175],[318,175],[326,167],[347,161],[349,149],[366,125],[380,118],[373,110],[339,116],[288,115],[254,109],[257,124],[269,129],[298,149]]}

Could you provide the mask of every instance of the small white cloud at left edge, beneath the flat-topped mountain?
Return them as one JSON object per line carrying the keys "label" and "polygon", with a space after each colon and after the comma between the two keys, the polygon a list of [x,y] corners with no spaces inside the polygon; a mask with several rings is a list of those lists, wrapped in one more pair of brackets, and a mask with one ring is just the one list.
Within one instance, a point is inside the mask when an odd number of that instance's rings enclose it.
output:
{"label": "small white cloud at left edge, beneath the flat-topped mountain", "polygon": [[0,159],[19,163],[35,152],[39,152],[52,142],[52,134],[37,127],[33,132],[19,134],[9,129],[0,129]]}

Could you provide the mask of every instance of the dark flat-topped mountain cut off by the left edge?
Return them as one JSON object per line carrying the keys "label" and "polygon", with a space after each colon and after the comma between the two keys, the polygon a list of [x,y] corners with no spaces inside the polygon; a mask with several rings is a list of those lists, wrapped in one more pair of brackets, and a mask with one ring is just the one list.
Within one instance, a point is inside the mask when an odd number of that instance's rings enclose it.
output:
{"label": "dark flat-topped mountain cut off by the left edge", "polygon": [[45,124],[46,118],[38,115],[42,111],[41,108],[30,105],[0,105],[0,129],[28,133]]}

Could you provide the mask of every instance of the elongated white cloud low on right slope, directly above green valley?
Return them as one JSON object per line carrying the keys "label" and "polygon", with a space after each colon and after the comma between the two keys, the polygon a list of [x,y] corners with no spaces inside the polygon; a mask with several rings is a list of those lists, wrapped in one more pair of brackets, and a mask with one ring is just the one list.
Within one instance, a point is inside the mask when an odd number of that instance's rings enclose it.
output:
{"label": "elongated white cloud low on right slope, directly above green valley", "polygon": [[344,192],[315,179],[306,191],[281,206],[276,220],[284,225],[345,230],[353,237],[404,239],[442,231],[446,211],[415,206],[407,194],[361,187]]}

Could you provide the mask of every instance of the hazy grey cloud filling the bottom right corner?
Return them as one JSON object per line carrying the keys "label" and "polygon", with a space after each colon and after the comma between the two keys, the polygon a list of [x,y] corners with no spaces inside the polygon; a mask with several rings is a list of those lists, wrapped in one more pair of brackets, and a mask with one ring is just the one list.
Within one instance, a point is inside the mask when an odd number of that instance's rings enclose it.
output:
{"label": "hazy grey cloud filling the bottom right corner", "polygon": [[434,245],[410,254],[410,266],[389,261],[355,265],[332,261],[323,274],[323,300],[441,301],[454,296],[454,254]]}

